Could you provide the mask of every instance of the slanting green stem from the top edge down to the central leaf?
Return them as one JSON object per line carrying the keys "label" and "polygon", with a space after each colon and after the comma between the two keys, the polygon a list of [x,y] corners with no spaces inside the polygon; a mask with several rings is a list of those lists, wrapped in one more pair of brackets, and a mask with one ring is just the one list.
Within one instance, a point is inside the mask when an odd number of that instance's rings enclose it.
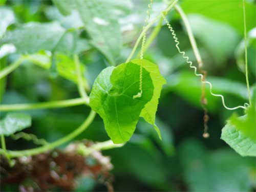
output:
{"label": "slanting green stem from the top edge down to the central leaf", "polygon": [[[172,8],[178,3],[178,1],[179,1],[179,0],[175,0],[174,2],[172,2],[172,4],[170,4],[170,5],[169,5],[166,9],[164,9],[162,12],[168,13],[169,10],[172,9]],[[142,32],[140,33],[140,35],[139,35],[137,41],[135,42],[135,45],[134,45],[134,47],[133,47],[133,50],[132,50],[131,54],[129,55],[129,57],[126,59],[125,62],[129,62],[129,61],[132,59],[132,57],[133,57],[133,55],[134,55],[134,53],[135,53],[137,47],[139,46],[140,40],[141,40],[141,38],[143,37],[143,34],[146,33],[147,30],[148,30],[155,22],[157,22],[157,20],[159,20],[161,17],[162,17],[162,13],[160,13],[155,19],[152,20],[152,22],[150,22],[149,24],[146,25],[146,27],[145,27],[145,28],[142,30]]]}

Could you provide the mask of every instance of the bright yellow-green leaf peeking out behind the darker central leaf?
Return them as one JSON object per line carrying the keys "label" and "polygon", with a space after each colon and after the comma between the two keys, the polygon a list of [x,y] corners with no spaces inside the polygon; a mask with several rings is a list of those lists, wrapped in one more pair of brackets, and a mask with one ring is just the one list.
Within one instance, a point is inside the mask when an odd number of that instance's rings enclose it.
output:
{"label": "bright yellow-green leaf peeking out behind the darker central leaf", "polygon": [[[131,62],[140,66],[140,59],[134,59]],[[158,126],[155,124],[156,112],[158,106],[158,99],[160,98],[162,86],[166,84],[165,79],[160,74],[158,66],[154,63],[147,61],[145,59],[142,60],[143,68],[150,73],[151,79],[154,85],[154,93],[152,99],[146,103],[145,107],[140,113],[140,117],[143,117],[146,122],[153,125],[154,129],[158,133],[160,139],[162,139],[160,130]],[[143,82],[142,82],[143,83]]]}

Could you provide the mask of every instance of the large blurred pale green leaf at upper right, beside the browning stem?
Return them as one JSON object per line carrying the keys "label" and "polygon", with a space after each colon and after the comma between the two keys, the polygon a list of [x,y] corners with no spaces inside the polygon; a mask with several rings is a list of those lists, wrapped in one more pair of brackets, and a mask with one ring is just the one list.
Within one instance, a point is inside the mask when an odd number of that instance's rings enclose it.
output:
{"label": "large blurred pale green leaf at upper right, beside the browning stem", "polygon": [[208,49],[218,66],[233,55],[239,41],[239,35],[233,28],[196,14],[189,14],[188,20],[194,35]]}

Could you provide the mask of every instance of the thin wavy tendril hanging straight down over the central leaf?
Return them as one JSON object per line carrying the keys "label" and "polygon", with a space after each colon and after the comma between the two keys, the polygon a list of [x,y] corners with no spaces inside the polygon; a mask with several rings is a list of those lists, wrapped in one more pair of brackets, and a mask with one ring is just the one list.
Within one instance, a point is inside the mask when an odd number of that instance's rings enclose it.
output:
{"label": "thin wavy tendril hanging straight down over the central leaf", "polygon": [[[146,11],[146,18],[145,18],[145,24],[143,26],[143,30],[145,29],[145,26],[148,24],[148,20],[150,20],[150,13],[152,10],[152,4],[153,4],[153,0],[150,1],[150,3],[147,5],[148,9]],[[140,85],[139,85],[139,92],[137,93],[137,95],[134,95],[133,98],[139,98],[142,95],[142,60],[143,60],[143,54],[144,54],[144,47],[145,47],[145,42],[146,42],[146,33],[143,33],[143,37],[142,37],[142,42],[141,42],[141,50],[140,50]]]}

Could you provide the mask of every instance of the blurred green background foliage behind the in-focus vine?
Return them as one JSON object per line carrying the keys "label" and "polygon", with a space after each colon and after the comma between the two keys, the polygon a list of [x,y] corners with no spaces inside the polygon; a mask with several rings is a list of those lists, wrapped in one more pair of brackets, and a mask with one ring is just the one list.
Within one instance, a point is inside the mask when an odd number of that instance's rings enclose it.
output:
{"label": "blurred green background foliage behind the in-focus vine", "polygon": [[[129,55],[142,29],[148,3],[145,0],[99,1],[90,10],[99,17],[110,17],[111,29],[104,25],[95,29],[87,23],[90,15],[84,7],[69,15],[72,1],[68,1],[71,3],[67,5],[69,9],[61,8],[58,1],[54,2],[62,14],[52,1],[0,0],[0,37],[3,37],[0,40],[0,69],[14,62],[20,54],[29,54],[32,58],[0,81],[2,104],[79,97],[71,57],[74,52],[80,55],[85,88],[90,90],[102,69],[124,62]],[[166,2],[154,1],[152,18],[159,14]],[[228,106],[247,102],[242,0],[183,0],[180,5],[187,13],[214,92],[223,94]],[[256,75],[255,10],[255,1],[247,0],[248,64],[252,89],[255,89]],[[197,65],[181,18],[173,10],[168,19],[176,30],[181,49]],[[73,30],[83,26],[86,30],[79,33]],[[65,35],[61,35],[63,33]],[[59,38],[62,40],[57,42]],[[102,39],[108,41],[110,47],[100,47],[98,43]],[[74,41],[77,41],[75,49],[72,47]],[[3,45],[9,42],[14,42],[14,53],[10,48],[8,51],[3,49]],[[55,65],[51,65],[49,51],[56,55]],[[168,82],[163,88],[157,112],[157,124],[163,140],[160,141],[152,127],[140,119],[130,142],[121,148],[103,152],[111,157],[114,165],[115,190],[256,190],[256,159],[239,156],[220,139],[221,130],[233,112],[225,110],[221,99],[209,94],[208,87],[210,137],[202,137],[201,83],[177,52],[166,26],[162,26],[145,58],[157,63]],[[33,118],[27,133],[54,141],[79,126],[88,115],[89,108],[74,106],[24,113]],[[236,113],[243,115],[242,110]],[[1,112],[1,118],[5,115]],[[93,141],[109,139],[100,117],[97,116],[89,129],[76,139],[83,138]],[[7,138],[7,147],[21,150],[34,145]],[[77,182],[76,191],[105,190],[91,178],[80,178]],[[16,190],[15,186],[1,187],[3,191]]]}

